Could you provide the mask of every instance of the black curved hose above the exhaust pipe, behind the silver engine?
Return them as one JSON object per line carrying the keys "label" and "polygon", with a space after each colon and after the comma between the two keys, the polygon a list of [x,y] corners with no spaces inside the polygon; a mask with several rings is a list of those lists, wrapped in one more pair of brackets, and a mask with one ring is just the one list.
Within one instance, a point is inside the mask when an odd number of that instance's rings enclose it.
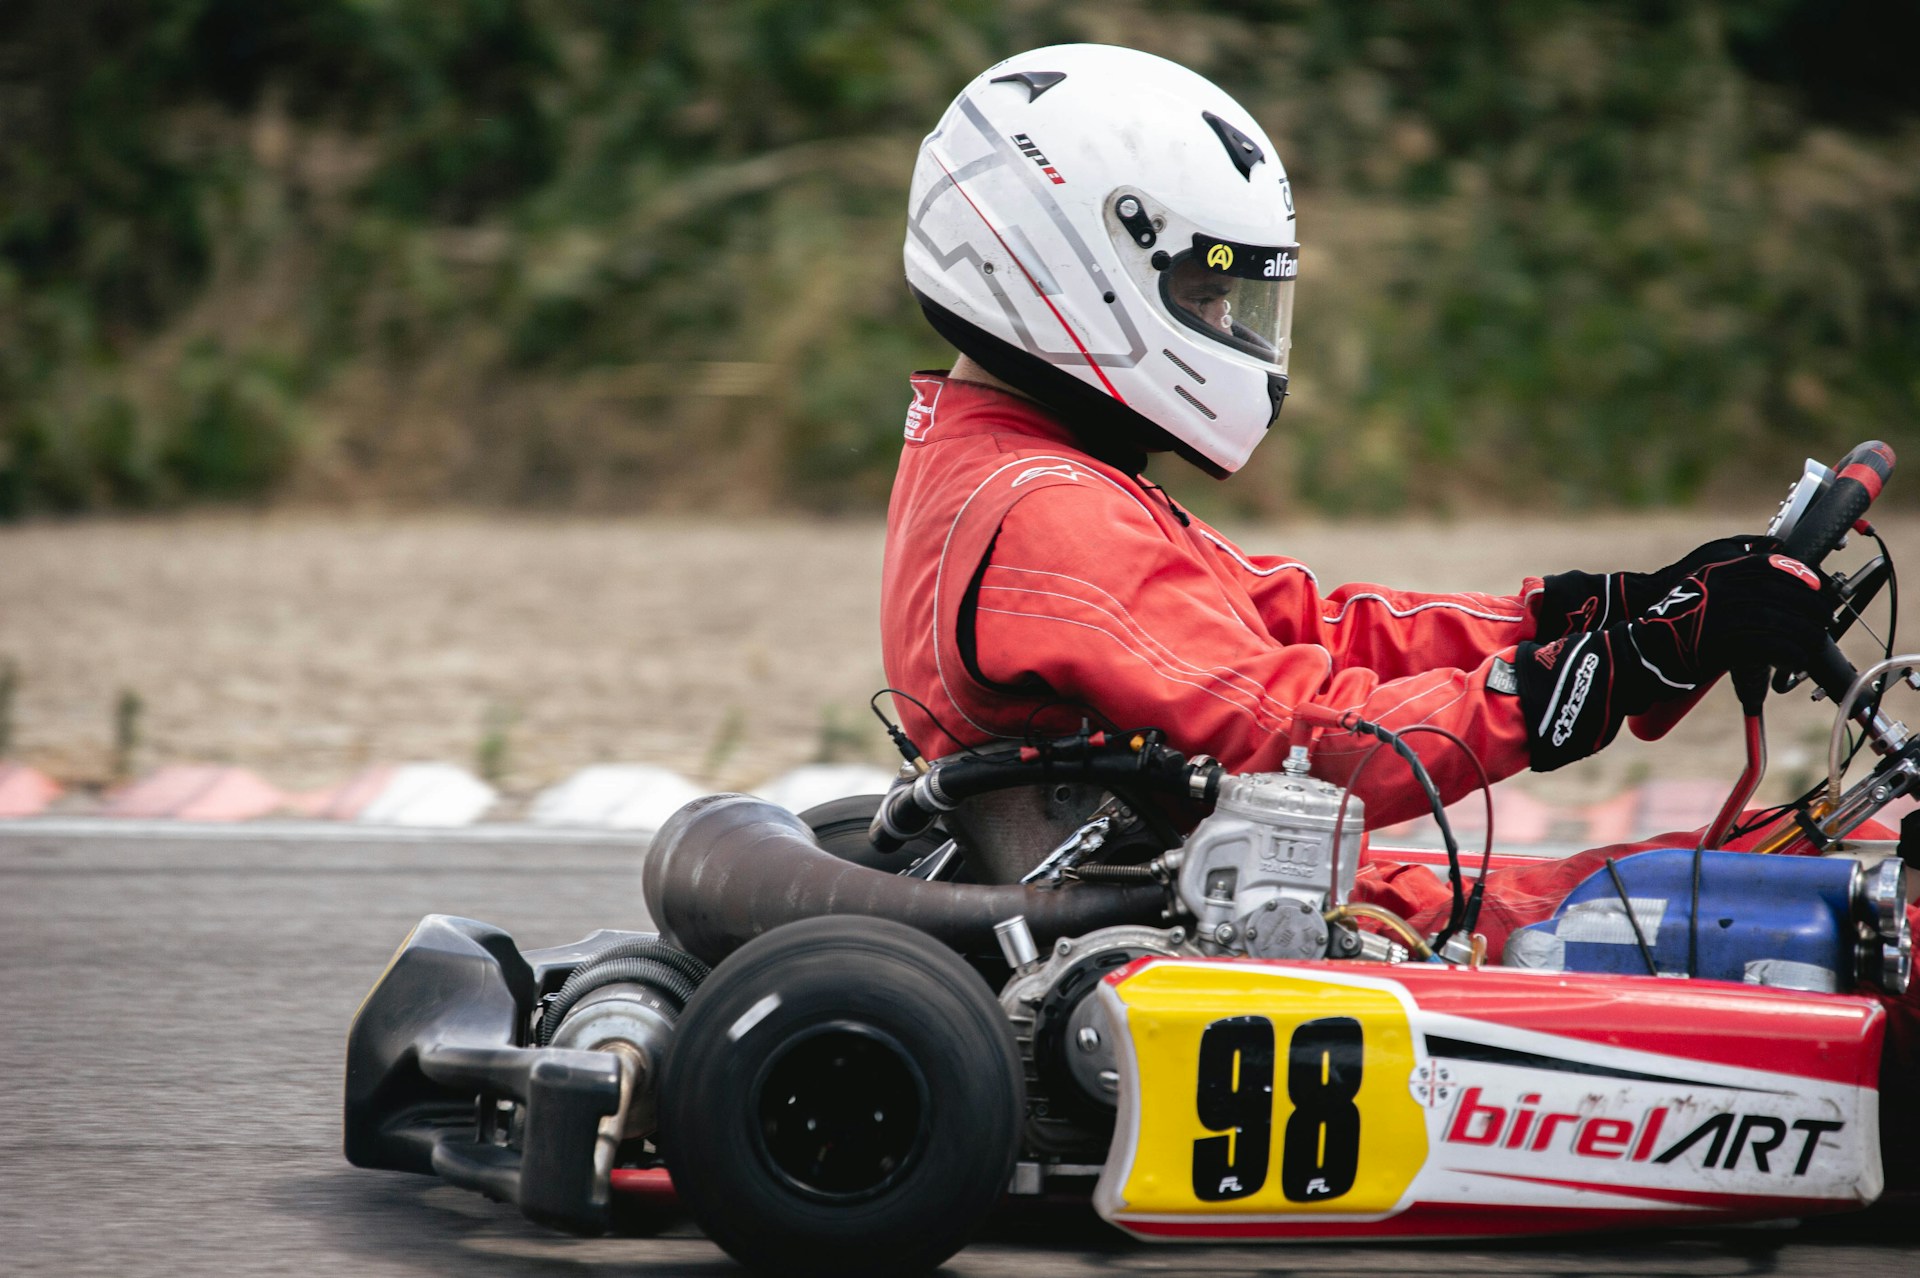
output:
{"label": "black curved hose above the exhaust pipe, behind the silver engine", "polygon": [[1187,758],[1165,745],[1164,733],[1150,727],[1133,733],[1079,733],[1018,748],[950,754],[914,781],[887,791],[868,827],[868,839],[881,852],[899,852],[966,798],[1054,781],[1156,791],[1212,806],[1223,775],[1225,768],[1217,760],[1206,754]]}

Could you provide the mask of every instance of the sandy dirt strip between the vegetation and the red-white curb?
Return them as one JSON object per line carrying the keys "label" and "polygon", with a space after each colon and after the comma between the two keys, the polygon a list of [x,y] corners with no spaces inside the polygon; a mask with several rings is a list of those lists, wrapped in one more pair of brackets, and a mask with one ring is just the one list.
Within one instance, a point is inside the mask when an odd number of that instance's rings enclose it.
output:
{"label": "sandy dirt strip between the vegetation and the red-white curb", "polygon": [[[1736,522],[1229,532],[1248,551],[1306,558],[1323,583],[1507,591],[1528,570],[1651,568]],[[1882,532],[1914,562],[1920,518]],[[104,785],[131,691],[136,769],[230,762],[290,789],[411,760],[480,768],[518,798],[595,762],[664,764],[716,787],[816,758],[887,762],[866,712],[883,683],[881,541],[877,522],[509,516],[12,528],[0,532],[0,658],[17,668],[10,756]],[[1868,647],[1849,643],[1857,658]],[[1665,743],[1622,733],[1596,760],[1515,783],[1586,802],[1647,777],[1732,777],[1734,718],[1720,689]],[[1824,768],[1830,722],[1805,695],[1776,698],[1766,793]]]}

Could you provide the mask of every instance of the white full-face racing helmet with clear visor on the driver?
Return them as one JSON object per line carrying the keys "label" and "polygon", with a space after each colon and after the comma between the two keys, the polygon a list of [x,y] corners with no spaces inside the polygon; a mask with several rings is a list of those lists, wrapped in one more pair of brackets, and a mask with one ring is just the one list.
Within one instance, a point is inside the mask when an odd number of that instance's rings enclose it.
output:
{"label": "white full-face racing helmet with clear visor on the driver", "polygon": [[1238,470],[1286,395],[1298,253],[1273,142],[1152,54],[1008,58],[920,144],[906,282],[927,320],[1094,451]]}

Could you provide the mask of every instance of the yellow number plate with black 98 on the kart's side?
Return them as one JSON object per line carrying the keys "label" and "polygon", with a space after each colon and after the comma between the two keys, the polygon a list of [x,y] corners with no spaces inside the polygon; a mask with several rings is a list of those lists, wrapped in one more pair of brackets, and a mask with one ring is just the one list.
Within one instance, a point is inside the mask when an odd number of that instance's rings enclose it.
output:
{"label": "yellow number plate with black 98 on the kart's side", "polygon": [[1390,984],[1158,961],[1110,994],[1137,1124],[1119,1211],[1379,1215],[1427,1161],[1413,1030]]}

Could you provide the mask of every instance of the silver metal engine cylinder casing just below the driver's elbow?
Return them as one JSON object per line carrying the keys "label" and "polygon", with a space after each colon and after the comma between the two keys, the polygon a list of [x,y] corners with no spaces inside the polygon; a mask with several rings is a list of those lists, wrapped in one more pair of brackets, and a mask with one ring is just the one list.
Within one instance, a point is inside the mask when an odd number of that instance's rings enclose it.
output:
{"label": "silver metal engine cylinder casing just below the driver's elbow", "polygon": [[[1304,771],[1227,777],[1219,800],[1187,837],[1179,896],[1194,940],[1212,954],[1302,959],[1327,954],[1334,896],[1334,821],[1346,791]],[[1354,890],[1367,810],[1346,800],[1338,898]]]}

